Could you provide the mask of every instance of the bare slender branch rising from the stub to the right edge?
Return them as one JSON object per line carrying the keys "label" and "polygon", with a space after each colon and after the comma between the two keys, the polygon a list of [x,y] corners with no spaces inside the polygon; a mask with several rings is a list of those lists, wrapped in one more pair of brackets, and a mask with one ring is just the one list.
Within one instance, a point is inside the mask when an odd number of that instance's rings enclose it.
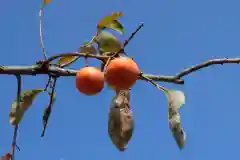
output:
{"label": "bare slender branch rising from the stub to the right edge", "polygon": [[209,61],[206,61],[206,62],[203,62],[201,64],[198,64],[198,65],[195,65],[191,68],[187,68],[185,69],[184,71],[178,73],[176,76],[175,76],[175,79],[180,79],[182,78],[183,76],[186,76],[192,72],[195,72],[197,70],[200,70],[202,68],[206,68],[206,67],[209,67],[209,66],[212,66],[212,65],[216,65],[216,64],[227,64],[227,63],[236,63],[236,64],[239,64],[240,63],[240,58],[222,58],[222,59],[212,59],[212,60],[209,60]]}

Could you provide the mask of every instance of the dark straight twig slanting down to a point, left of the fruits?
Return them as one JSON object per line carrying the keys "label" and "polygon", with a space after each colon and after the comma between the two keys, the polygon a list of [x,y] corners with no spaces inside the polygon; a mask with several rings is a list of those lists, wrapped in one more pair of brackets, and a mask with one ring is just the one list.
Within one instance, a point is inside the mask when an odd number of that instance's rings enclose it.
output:
{"label": "dark straight twig slanting down to a point, left of the fruits", "polygon": [[53,86],[51,87],[52,91],[51,91],[51,95],[50,95],[50,102],[49,102],[49,105],[46,108],[46,110],[45,110],[46,112],[44,113],[44,116],[43,116],[44,126],[43,126],[43,131],[42,131],[41,137],[44,137],[44,135],[45,135],[47,124],[48,124],[48,119],[51,115],[56,82],[57,82],[57,78],[55,77],[54,80],[53,80]]}

